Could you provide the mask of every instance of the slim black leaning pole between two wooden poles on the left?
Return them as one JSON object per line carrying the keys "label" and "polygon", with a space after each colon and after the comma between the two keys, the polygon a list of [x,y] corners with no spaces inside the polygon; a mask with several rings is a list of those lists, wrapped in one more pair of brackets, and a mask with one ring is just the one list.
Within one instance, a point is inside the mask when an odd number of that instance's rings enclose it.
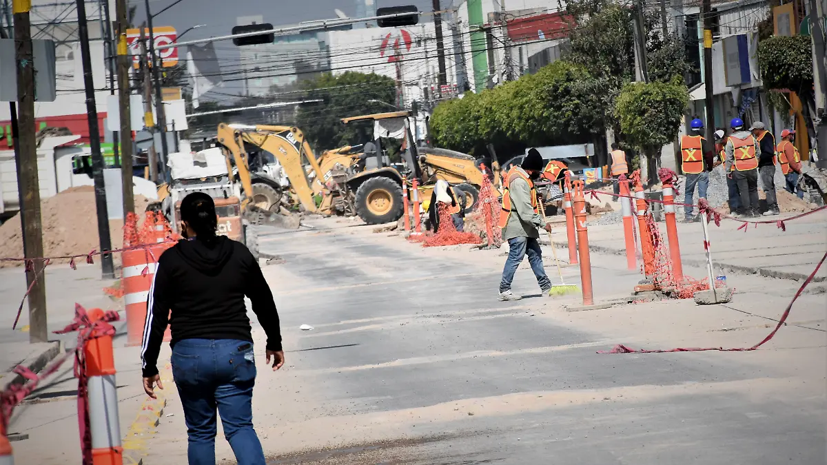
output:
{"label": "slim black leaning pole between two wooden poles on the left", "polygon": [[[98,213],[98,236],[101,252],[112,250],[109,237],[109,213],[106,206],[106,186],[103,185],[103,155],[101,154],[100,128],[98,127],[98,109],[95,108],[95,85],[92,79],[92,57],[89,54],[89,31],[86,26],[86,4],[78,0],[78,39],[80,41],[80,58],[84,65],[84,88],[86,89],[86,113],[89,122],[89,146],[92,149],[92,177],[95,184],[95,211]],[[101,271],[104,279],[115,277],[112,266],[112,254],[101,256]]]}

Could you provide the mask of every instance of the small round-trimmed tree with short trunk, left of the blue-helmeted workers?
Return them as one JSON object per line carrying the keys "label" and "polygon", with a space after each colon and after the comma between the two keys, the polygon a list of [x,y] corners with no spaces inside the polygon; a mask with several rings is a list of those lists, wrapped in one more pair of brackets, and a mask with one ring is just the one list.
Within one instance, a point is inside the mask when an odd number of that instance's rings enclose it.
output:
{"label": "small round-trimmed tree with short trunk, left of the blue-helmeted workers", "polygon": [[677,137],[688,100],[686,84],[679,78],[669,83],[629,83],[620,91],[614,116],[625,141],[645,155],[641,167],[650,182],[660,166],[661,149]]}

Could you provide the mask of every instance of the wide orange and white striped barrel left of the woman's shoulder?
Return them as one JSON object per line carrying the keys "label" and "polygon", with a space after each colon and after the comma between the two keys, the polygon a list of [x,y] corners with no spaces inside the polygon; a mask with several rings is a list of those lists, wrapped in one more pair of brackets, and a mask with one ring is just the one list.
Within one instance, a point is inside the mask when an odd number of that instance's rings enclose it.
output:
{"label": "wide orange and white striped barrel left of the woman's shoulder", "polygon": [[[165,248],[148,246],[121,253],[121,288],[123,305],[127,313],[127,346],[141,345],[146,321],[146,302],[149,300],[158,258]],[[170,330],[167,328],[164,340],[170,339]]]}

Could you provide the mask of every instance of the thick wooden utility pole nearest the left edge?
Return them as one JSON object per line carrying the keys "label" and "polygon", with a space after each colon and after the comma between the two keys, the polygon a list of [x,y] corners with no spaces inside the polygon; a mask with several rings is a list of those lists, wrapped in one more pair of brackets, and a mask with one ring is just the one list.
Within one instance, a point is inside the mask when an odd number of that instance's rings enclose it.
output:
{"label": "thick wooden utility pole nearest the left edge", "polygon": [[[49,340],[46,328],[46,285],[41,224],[41,189],[37,179],[37,142],[35,139],[35,69],[31,50],[29,2],[13,2],[14,50],[17,61],[17,106],[12,107],[12,134],[17,161],[17,192],[20,195],[20,226],[23,233],[23,256],[32,260],[26,266],[29,292],[29,342]],[[13,103],[12,103],[13,105]],[[23,131],[20,131],[20,128]]]}

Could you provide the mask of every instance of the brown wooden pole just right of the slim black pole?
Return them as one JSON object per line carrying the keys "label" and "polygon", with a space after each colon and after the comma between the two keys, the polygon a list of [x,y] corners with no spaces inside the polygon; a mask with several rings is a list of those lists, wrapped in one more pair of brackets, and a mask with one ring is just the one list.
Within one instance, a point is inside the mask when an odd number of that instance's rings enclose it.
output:
{"label": "brown wooden pole just right of the slim black pole", "polygon": [[116,0],[117,17],[117,100],[121,115],[121,184],[123,187],[123,214],[135,211],[132,188],[132,125],[129,109],[129,67],[132,65],[127,48],[127,0]]}

